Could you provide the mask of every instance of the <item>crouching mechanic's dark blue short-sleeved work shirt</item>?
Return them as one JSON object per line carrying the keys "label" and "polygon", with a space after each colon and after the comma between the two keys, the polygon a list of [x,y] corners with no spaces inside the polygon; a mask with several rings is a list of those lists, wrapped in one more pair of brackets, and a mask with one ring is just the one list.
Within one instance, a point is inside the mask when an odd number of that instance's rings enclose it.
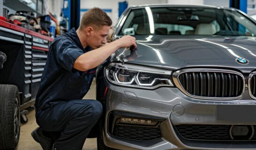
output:
{"label": "crouching mechanic's dark blue short-sleeved work shirt", "polygon": [[85,96],[96,69],[78,71],[73,65],[78,56],[90,50],[90,47],[83,48],[74,28],[54,39],[36,97],[37,109]]}

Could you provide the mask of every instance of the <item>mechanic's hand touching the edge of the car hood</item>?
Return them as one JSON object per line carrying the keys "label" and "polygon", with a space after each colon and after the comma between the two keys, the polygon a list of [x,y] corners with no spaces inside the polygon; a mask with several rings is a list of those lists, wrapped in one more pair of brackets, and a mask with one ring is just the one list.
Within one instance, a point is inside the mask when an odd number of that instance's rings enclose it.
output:
{"label": "mechanic's hand touching the edge of the car hood", "polygon": [[133,50],[137,48],[136,45],[136,39],[135,37],[132,37],[130,35],[126,35],[124,37],[121,37],[114,41],[117,45],[119,45],[119,48],[126,48],[126,47],[133,47]]}

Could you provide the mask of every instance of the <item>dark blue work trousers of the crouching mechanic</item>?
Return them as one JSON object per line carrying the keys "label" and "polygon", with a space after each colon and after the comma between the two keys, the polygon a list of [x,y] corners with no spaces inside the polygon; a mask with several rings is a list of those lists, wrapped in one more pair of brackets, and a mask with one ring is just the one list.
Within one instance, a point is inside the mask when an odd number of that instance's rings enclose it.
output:
{"label": "dark blue work trousers of the crouching mechanic", "polygon": [[87,135],[99,120],[102,105],[97,100],[59,102],[36,113],[38,125],[52,133],[57,150],[82,150]]}

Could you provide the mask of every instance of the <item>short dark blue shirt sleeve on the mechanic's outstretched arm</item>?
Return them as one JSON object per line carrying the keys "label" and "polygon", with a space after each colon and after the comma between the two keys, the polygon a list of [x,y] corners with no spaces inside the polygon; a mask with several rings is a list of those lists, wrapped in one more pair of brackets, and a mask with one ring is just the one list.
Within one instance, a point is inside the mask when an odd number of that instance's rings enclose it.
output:
{"label": "short dark blue shirt sleeve on the mechanic's outstretched arm", "polygon": [[76,59],[81,54],[84,54],[83,50],[67,39],[58,40],[53,46],[58,64],[66,70],[72,72]]}

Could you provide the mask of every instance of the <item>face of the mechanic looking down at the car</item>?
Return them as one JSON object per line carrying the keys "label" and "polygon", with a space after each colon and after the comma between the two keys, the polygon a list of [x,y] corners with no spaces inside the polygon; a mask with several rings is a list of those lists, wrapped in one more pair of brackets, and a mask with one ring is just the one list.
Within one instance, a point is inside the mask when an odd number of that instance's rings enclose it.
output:
{"label": "face of the mechanic looking down at the car", "polygon": [[110,27],[106,25],[94,28],[87,39],[87,44],[93,49],[97,49],[105,45],[107,43],[109,29]]}

